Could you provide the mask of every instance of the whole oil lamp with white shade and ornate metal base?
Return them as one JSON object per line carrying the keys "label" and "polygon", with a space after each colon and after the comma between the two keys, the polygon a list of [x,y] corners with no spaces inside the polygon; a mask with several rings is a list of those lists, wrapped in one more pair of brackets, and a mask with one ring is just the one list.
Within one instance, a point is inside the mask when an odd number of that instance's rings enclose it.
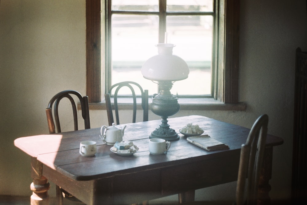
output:
{"label": "whole oil lamp with white shade and ornate metal base", "polygon": [[148,59],[142,66],[144,78],[156,81],[159,88],[158,94],[153,94],[150,110],[162,117],[162,123],[151,134],[151,138],[161,138],[167,141],[179,139],[177,132],[169,127],[167,118],[175,115],[180,104],[178,98],[171,94],[173,82],[188,78],[189,67],[187,63],[177,55],[173,55],[174,44],[157,44],[158,55]]}

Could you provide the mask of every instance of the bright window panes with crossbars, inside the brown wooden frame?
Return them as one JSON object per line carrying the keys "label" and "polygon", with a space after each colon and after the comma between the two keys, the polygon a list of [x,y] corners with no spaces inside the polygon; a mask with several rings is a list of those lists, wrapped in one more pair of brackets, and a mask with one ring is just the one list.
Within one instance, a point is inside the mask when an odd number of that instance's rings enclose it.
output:
{"label": "bright window panes with crossbars, inside the brown wooden frame", "polygon": [[[107,87],[134,81],[157,93],[157,84],[142,77],[142,64],[157,55],[158,43],[172,43],[189,77],[173,84],[172,93],[211,96],[214,0],[109,0],[107,8]],[[195,89],[197,88],[197,89]],[[122,93],[126,94],[126,93]]]}

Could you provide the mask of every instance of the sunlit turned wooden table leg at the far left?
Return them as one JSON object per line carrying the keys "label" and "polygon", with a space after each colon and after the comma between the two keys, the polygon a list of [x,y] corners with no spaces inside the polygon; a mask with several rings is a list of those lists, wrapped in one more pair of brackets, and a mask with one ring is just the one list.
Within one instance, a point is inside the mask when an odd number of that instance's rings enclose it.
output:
{"label": "sunlit turned wooden table leg at the far left", "polygon": [[43,164],[36,158],[31,158],[31,176],[33,182],[30,185],[33,191],[31,196],[31,205],[49,205],[48,190],[50,184],[48,179],[42,175]]}

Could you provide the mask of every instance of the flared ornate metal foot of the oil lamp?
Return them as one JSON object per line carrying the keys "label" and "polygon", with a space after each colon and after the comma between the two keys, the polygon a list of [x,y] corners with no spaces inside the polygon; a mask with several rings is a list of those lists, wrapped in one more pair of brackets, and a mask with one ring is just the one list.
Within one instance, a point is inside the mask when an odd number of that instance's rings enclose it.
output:
{"label": "flared ornate metal foot of the oil lamp", "polygon": [[166,141],[176,141],[179,140],[179,136],[174,129],[169,128],[169,124],[167,124],[168,120],[167,117],[162,117],[162,124],[159,128],[156,128],[151,135],[149,136],[150,139],[152,138],[160,138],[165,139]]}

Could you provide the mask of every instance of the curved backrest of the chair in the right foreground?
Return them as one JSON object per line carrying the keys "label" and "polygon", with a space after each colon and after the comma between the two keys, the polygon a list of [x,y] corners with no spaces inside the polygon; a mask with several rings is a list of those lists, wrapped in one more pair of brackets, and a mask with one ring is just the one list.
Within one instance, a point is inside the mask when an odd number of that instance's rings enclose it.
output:
{"label": "curved backrest of the chair in the right foreground", "polygon": [[266,114],[260,116],[251,128],[246,143],[241,147],[236,190],[237,205],[257,203],[258,180],[264,160],[268,121]]}

